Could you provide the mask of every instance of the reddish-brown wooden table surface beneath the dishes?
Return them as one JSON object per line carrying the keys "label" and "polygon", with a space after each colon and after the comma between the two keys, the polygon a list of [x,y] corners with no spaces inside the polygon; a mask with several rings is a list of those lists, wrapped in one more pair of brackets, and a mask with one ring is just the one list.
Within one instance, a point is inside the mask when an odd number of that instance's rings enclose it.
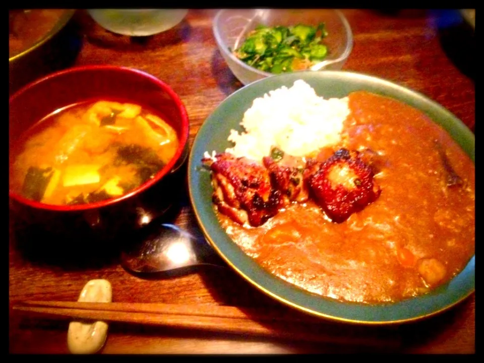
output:
{"label": "reddish-brown wooden table surface beneath the dishes", "polygon": [[[419,91],[448,108],[472,131],[475,121],[473,33],[431,11],[344,10],[354,47],[344,70],[379,76]],[[82,34],[75,65],[134,67],[167,82],[186,105],[193,142],[206,117],[243,85],[231,74],[212,34],[216,10],[190,10],[175,28],[143,39],[111,34],[85,13],[73,22]],[[467,51],[467,53],[466,53]],[[197,232],[190,204],[181,198],[174,223]],[[229,268],[204,267],[163,279],[128,274],[113,256],[72,266],[34,258],[10,235],[10,301],[75,301],[90,279],[108,279],[114,301],[263,307],[286,313]],[[45,257],[45,256],[44,256]],[[474,353],[474,295],[426,320],[391,327],[324,322],[327,343],[298,342],[112,323],[103,353]],[[327,325],[326,325],[327,324]],[[47,320],[10,309],[11,353],[68,353],[68,321]],[[329,332],[329,333],[328,333]],[[332,338],[334,339],[332,339]]]}

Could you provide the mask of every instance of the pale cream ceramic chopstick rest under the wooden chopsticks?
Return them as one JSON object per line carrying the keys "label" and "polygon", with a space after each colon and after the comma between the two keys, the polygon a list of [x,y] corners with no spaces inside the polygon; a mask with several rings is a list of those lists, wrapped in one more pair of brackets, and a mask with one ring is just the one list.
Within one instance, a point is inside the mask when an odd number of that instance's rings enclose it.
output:
{"label": "pale cream ceramic chopstick rest under the wooden chopsticks", "polygon": [[[78,301],[111,302],[112,288],[107,280],[90,280],[82,289]],[[93,354],[106,341],[108,325],[103,321],[72,321],[67,333],[67,344],[73,354]]]}

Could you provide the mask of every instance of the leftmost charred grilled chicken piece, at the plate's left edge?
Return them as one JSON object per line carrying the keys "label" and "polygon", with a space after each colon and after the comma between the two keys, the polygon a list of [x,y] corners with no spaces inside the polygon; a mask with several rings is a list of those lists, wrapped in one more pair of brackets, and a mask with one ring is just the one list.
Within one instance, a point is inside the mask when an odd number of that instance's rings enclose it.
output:
{"label": "leftmost charred grilled chicken piece, at the plate's left edge", "polygon": [[271,187],[268,170],[229,153],[202,159],[212,170],[212,200],[220,213],[252,226],[263,224],[281,206],[281,192]]}

